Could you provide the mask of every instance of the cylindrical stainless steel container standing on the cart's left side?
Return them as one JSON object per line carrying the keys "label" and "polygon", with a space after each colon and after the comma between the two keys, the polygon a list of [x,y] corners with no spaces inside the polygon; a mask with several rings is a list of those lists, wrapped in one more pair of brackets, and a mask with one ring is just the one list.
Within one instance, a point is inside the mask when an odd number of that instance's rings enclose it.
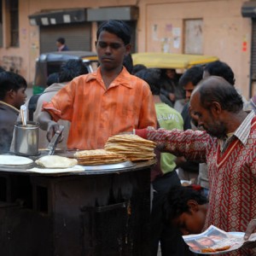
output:
{"label": "cylindrical stainless steel container standing on the cart's left side", "polygon": [[22,125],[18,122],[15,125],[15,154],[19,155],[38,155],[39,124],[27,122]]}

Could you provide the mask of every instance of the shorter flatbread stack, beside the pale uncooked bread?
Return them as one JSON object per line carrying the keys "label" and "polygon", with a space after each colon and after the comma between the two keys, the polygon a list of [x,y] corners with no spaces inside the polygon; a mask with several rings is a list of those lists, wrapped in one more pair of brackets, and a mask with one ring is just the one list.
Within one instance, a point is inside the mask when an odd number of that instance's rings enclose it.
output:
{"label": "shorter flatbread stack, beside the pale uncooked bread", "polygon": [[74,157],[82,166],[113,164],[126,160],[124,154],[106,151],[105,149],[78,151],[74,154]]}

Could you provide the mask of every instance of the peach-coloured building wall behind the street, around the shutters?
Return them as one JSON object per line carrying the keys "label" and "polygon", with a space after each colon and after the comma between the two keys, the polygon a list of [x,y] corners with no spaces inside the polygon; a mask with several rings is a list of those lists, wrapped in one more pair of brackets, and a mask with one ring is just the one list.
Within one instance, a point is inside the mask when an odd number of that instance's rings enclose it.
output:
{"label": "peach-coloured building wall behind the street, around the shutters", "polygon": [[[140,1],[84,1],[20,0],[20,48],[9,48],[9,38],[3,39],[0,48],[0,65],[3,60],[20,57],[19,72],[29,83],[35,72],[39,54],[39,27],[30,26],[28,15],[49,9],[96,8],[137,5],[137,50],[183,53],[183,20],[203,20],[203,54],[217,55],[227,62],[236,74],[236,86],[248,97],[250,76],[251,19],[242,18],[244,0],[140,0]],[[61,3],[61,6],[60,6]],[[4,5],[4,4],[3,4]],[[3,6],[4,9],[4,6]],[[3,28],[8,19],[3,20]],[[7,30],[5,30],[6,32]],[[92,23],[92,40],[95,41],[96,22]],[[52,44],[55,44],[53,42]],[[94,45],[91,46],[94,50]],[[12,59],[13,58],[13,59]]]}

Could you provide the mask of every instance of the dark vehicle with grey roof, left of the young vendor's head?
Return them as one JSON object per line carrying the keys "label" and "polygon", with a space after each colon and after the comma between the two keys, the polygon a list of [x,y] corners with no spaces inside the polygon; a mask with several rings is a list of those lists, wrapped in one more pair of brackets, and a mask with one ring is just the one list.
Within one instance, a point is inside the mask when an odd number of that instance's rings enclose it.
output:
{"label": "dark vehicle with grey roof, left of the young vendor's head", "polygon": [[33,94],[44,91],[46,80],[51,73],[59,72],[61,64],[71,59],[82,59],[88,72],[96,70],[98,66],[98,57],[91,51],[55,51],[41,54],[36,61],[36,72],[33,82]]}

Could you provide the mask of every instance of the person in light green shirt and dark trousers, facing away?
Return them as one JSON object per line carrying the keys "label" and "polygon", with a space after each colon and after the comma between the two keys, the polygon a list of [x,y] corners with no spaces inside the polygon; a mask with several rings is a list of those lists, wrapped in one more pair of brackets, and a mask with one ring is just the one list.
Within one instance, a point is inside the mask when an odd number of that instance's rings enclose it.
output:
{"label": "person in light green shirt and dark trousers, facing away", "polygon": [[[166,130],[183,129],[183,119],[174,108],[160,100],[160,69],[146,68],[136,76],[149,84],[154,98],[158,125]],[[163,223],[162,204],[166,192],[172,186],[181,185],[176,172],[176,157],[169,153],[156,152],[157,165],[151,170],[153,203],[151,211],[151,255],[157,256],[160,243],[161,255],[185,255],[185,243],[180,232],[172,225]],[[188,252],[188,249],[187,249]]]}

